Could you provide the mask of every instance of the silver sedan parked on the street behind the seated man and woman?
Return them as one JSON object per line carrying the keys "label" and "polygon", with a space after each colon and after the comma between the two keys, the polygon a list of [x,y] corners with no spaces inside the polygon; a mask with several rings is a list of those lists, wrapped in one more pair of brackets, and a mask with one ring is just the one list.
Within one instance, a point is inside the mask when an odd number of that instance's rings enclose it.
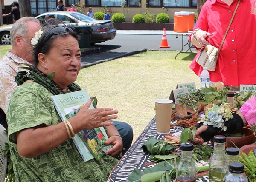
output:
{"label": "silver sedan parked on the street behind the seated man and woman", "polygon": [[[50,15],[51,18],[61,20],[64,24],[71,28],[88,28],[91,27],[91,44],[105,42],[111,40],[116,36],[116,29],[113,26],[111,20],[95,20],[84,14],[72,11],[57,11],[48,12],[38,15],[36,18],[45,23],[45,16]],[[12,25],[0,27],[0,39],[1,44],[10,44],[10,30]],[[87,33],[86,31],[84,31]]]}

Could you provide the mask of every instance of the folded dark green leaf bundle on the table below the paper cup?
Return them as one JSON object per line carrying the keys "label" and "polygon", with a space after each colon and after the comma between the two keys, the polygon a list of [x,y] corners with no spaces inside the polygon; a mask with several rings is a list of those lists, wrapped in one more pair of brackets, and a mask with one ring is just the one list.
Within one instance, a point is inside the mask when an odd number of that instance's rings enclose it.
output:
{"label": "folded dark green leaf bundle on the table below the paper cup", "polygon": [[150,137],[148,141],[141,147],[143,152],[148,151],[150,154],[167,155],[169,151],[175,149],[175,146],[170,142]]}

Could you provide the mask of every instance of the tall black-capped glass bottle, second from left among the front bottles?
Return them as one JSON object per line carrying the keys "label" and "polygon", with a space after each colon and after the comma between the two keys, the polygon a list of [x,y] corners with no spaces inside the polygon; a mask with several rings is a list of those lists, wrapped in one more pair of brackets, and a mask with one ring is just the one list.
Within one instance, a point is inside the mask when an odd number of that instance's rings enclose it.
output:
{"label": "tall black-capped glass bottle, second from left among the front bottles", "polygon": [[226,137],[223,135],[215,135],[213,141],[213,154],[209,164],[209,182],[221,182],[221,174],[226,165]]}

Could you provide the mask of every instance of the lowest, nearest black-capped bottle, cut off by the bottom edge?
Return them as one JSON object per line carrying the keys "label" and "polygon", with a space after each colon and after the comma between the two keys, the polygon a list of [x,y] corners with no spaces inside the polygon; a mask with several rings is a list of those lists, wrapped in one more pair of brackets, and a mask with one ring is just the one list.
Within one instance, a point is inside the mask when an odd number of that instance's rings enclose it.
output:
{"label": "lowest, nearest black-capped bottle, cut off by the bottom edge", "polygon": [[248,182],[248,178],[244,174],[244,164],[240,162],[230,163],[230,169],[224,182]]}

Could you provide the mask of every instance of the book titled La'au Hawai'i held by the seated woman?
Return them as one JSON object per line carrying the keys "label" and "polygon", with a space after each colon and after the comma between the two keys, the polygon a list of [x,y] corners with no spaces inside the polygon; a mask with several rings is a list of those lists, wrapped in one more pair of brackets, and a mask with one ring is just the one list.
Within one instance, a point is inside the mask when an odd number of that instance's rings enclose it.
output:
{"label": "book titled La'au Hawai'i held by the seated woman", "polygon": [[[61,120],[65,121],[74,117],[81,107],[88,102],[90,97],[86,90],[81,90],[54,95],[51,98]],[[90,109],[93,108],[93,105],[90,105]],[[82,130],[75,134],[72,139],[84,162],[93,158],[99,160],[112,147],[112,145],[103,144],[108,139],[108,135],[103,127]]]}

